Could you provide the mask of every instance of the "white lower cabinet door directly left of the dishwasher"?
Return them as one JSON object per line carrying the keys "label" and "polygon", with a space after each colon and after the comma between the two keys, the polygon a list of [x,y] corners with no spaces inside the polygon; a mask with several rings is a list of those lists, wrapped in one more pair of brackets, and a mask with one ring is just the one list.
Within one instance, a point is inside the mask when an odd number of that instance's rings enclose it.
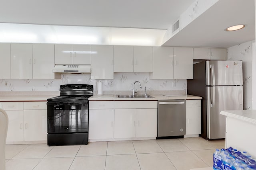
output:
{"label": "white lower cabinet door directly left of the dishwasher", "polygon": [[136,137],[157,137],[157,109],[137,109],[136,121]]}

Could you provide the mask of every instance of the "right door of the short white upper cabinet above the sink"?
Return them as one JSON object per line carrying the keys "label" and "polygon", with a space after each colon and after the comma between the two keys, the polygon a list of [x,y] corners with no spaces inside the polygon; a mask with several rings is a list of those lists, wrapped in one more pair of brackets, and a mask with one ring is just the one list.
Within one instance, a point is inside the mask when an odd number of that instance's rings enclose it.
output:
{"label": "right door of the short white upper cabinet above the sink", "polygon": [[134,72],[153,72],[153,47],[134,46]]}

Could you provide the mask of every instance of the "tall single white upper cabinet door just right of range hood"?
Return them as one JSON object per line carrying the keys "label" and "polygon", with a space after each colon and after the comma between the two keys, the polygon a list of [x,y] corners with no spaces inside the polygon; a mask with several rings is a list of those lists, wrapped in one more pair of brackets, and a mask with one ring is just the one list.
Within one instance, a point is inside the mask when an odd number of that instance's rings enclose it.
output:
{"label": "tall single white upper cabinet door just right of range hood", "polygon": [[92,45],[91,79],[114,79],[114,46]]}

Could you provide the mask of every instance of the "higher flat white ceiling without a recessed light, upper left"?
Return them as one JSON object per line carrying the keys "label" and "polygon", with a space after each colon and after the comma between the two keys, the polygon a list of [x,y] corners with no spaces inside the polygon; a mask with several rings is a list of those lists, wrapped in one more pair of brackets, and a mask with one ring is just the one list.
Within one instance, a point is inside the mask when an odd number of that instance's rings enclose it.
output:
{"label": "higher flat white ceiling without a recessed light, upper left", "polygon": [[167,29],[194,0],[1,0],[0,22]]}

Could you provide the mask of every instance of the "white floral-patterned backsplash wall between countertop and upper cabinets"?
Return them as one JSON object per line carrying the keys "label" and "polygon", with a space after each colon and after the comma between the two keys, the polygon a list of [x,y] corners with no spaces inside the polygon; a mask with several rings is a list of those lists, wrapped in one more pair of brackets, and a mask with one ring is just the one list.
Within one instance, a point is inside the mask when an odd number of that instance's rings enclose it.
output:
{"label": "white floral-patterned backsplash wall between countertop and upper cabinets", "polygon": [[[91,74],[62,74],[61,79],[0,79],[1,91],[59,91],[61,84],[92,84],[96,90],[96,82]],[[101,80],[103,91],[132,90],[134,81],[140,81],[147,90],[187,90],[186,79],[150,80],[148,73],[114,73],[114,80]],[[175,82],[176,86],[172,86]],[[7,85],[6,85],[7,84]],[[135,85],[136,89],[139,86]]]}

